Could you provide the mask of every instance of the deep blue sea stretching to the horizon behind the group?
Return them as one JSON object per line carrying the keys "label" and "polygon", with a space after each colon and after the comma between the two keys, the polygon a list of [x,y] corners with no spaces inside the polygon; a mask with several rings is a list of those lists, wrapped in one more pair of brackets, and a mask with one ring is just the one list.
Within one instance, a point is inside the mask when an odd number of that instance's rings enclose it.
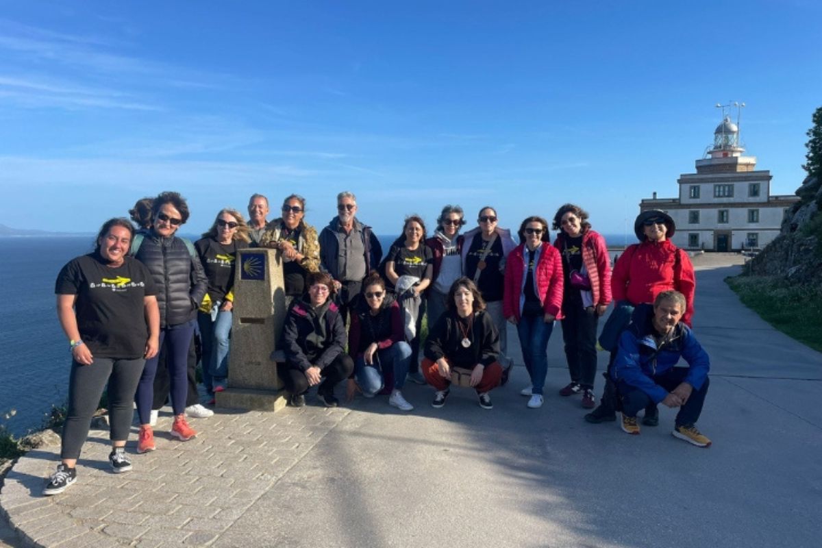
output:
{"label": "deep blue sea stretching to the horizon behind the group", "polygon": [[[624,236],[605,237],[612,249],[625,242]],[[384,253],[395,239],[379,236]],[[0,425],[16,435],[39,426],[51,406],[66,399],[71,357],[55,311],[54,281],[62,265],[91,251],[93,240],[0,237]]]}

